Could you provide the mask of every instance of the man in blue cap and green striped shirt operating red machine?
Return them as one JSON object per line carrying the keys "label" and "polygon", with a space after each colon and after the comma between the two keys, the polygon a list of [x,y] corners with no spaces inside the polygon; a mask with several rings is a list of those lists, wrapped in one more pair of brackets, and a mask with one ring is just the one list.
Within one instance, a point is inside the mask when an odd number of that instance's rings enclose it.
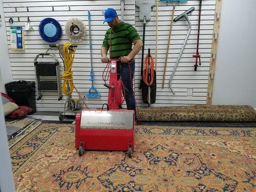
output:
{"label": "man in blue cap and green striped shirt operating red machine", "polygon": [[[126,24],[119,20],[117,12],[114,9],[107,9],[104,12],[104,16],[104,23],[107,22],[110,28],[107,30],[102,43],[101,62],[107,63],[109,61],[107,56],[109,49],[110,59],[121,58],[121,66],[119,67],[118,73],[122,77],[127,109],[135,111],[135,120],[137,120],[132,80],[135,70],[134,57],[143,46],[142,40],[131,24]],[[134,48],[132,49],[133,44]]]}

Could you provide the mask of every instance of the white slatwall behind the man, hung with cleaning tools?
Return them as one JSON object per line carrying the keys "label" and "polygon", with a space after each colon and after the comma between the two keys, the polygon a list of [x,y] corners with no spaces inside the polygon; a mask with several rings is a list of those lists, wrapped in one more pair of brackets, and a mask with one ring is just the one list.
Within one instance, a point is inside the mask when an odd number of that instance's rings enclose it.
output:
{"label": "white slatwall behind the man, hung with cleaning tools", "polygon": [[[166,72],[165,88],[161,88],[163,67],[165,61],[166,48],[168,43],[169,29],[171,24],[171,6],[166,6],[165,3],[159,2],[158,12],[158,72],[157,72],[157,101],[152,106],[171,106],[171,105],[190,105],[190,104],[205,104],[207,96],[208,71],[211,52],[211,39],[213,31],[215,0],[203,0],[202,6],[202,21],[201,21],[201,36],[200,50],[201,67],[194,72],[195,59],[192,55],[196,51],[196,34],[197,34],[197,19],[198,19],[198,0],[189,0],[181,3],[176,7],[175,15],[179,15],[192,6],[195,6],[195,11],[189,16],[192,23],[192,32],[189,37],[186,48],[183,52],[177,71],[172,81],[172,87],[176,92],[173,96],[170,92],[168,82],[171,72],[179,55],[184,38],[187,33],[187,25],[184,21],[174,23],[171,46],[168,59],[168,67]],[[71,11],[67,5],[70,5]],[[29,12],[26,8],[28,7]],[[92,44],[93,44],[93,65],[95,72],[95,87],[101,93],[99,99],[86,99],[85,102],[90,108],[98,108],[107,101],[108,90],[103,86],[101,78],[105,64],[100,62],[100,48],[104,34],[108,29],[107,24],[103,24],[104,16],[102,10],[112,7],[121,15],[120,0],[3,0],[4,16],[6,22],[7,38],[9,43],[9,53],[12,66],[12,76],[14,81],[18,80],[35,80],[33,60],[36,54],[45,52],[49,47],[49,43],[42,40],[38,34],[38,24],[46,17],[52,17],[60,22],[62,29],[66,21],[72,17],[77,17],[87,22],[87,10],[91,11],[91,29],[92,29]],[[12,7],[17,7],[17,12]],[[52,11],[54,7],[54,11]],[[143,22],[138,19],[138,9],[135,8],[135,0],[125,0],[124,22],[133,24],[139,34],[142,36]],[[145,53],[147,48],[151,48],[151,53],[155,57],[155,19],[156,7],[153,8],[151,21],[146,23],[146,40]],[[34,31],[25,32],[25,50],[10,49],[10,27],[24,26],[27,17],[34,26]],[[12,17],[14,23],[9,24],[9,18]],[[18,22],[18,17],[20,22]],[[87,27],[88,29],[88,27]],[[87,33],[88,34],[88,33]],[[56,42],[59,44],[69,42],[63,31],[61,39]],[[60,58],[59,58],[60,59]],[[61,59],[60,59],[61,61]],[[141,92],[138,90],[140,79],[140,62],[141,52],[136,57],[135,71],[135,94],[138,106],[145,106],[141,100]],[[91,86],[89,79],[90,74],[90,54],[88,46],[88,36],[85,40],[78,43],[76,55],[73,64],[74,83],[81,93],[85,93]],[[187,88],[194,88],[193,96],[187,96]],[[74,92],[73,97],[77,97]],[[65,97],[64,97],[65,98]],[[57,93],[46,92],[41,100],[37,101],[37,110],[52,110],[60,111],[63,108],[64,99],[58,101]]]}

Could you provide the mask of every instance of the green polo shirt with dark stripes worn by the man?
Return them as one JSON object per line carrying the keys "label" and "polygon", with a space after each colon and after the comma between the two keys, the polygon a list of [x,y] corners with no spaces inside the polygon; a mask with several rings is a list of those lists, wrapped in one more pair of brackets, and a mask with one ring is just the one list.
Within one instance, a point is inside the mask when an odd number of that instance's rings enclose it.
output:
{"label": "green polo shirt with dark stripes worn by the man", "polygon": [[[112,32],[111,32],[112,30]],[[109,28],[105,34],[102,47],[110,50],[110,32],[111,34],[111,51],[110,58],[118,59],[121,56],[127,56],[132,51],[134,40],[141,39],[136,29],[131,24],[120,22],[115,29]]]}

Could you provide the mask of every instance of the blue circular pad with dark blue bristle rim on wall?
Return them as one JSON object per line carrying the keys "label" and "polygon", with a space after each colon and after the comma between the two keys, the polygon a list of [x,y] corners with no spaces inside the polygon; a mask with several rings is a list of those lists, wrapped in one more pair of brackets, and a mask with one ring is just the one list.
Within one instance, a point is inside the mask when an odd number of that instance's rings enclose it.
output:
{"label": "blue circular pad with dark blue bristle rim on wall", "polygon": [[43,19],[38,26],[38,31],[40,36],[50,43],[58,41],[62,35],[61,24],[52,18]]}

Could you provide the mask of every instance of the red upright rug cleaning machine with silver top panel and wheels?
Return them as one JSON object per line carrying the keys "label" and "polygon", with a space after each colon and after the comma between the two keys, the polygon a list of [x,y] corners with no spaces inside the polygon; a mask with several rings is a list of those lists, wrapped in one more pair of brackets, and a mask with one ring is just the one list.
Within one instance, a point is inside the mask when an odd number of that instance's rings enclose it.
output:
{"label": "red upright rug cleaning machine with silver top panel and wheels", "polygon": [[107,74],[110,77],[107,109],[83,109],[75,117],[75,148],[80,156],[84,150],[127,151],[134,150],[134,110],[118,109],[118,62],[110,60]]}

